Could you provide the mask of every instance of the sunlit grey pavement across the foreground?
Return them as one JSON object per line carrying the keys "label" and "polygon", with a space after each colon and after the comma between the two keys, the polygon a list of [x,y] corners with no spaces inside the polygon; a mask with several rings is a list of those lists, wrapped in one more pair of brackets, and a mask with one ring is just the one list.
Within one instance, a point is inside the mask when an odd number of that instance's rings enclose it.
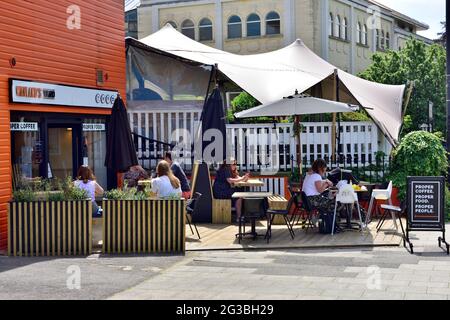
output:
{"label": "sunlit grey pavement across the foreground", "polygon": [[0,256],[3,299],[450,299],[438,233],[403,247],[214,250],[185,256]]}

